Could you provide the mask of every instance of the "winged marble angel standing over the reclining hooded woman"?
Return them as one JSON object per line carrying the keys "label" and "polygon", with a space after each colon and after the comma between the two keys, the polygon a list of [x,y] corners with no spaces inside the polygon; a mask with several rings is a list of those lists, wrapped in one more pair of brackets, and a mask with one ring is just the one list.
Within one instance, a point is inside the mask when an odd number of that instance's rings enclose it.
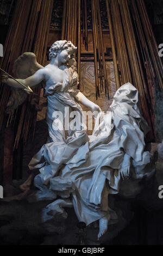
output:
{"label": "winged marble angel standing over the reclining hooded woman", "polygon": [[[37,167],[39,162],[42,163],[42,167],[47,161],[51,167],[53,166],[46,171],[46,177],[43,176],[43,182],[45,183],[48,182],[51,176],[57,173],[61,164],[64,164],[67,159],[70,159],[78,147],[87,141],[85,125],[82,124],[82,107],[79,103],[91,108],[93,112],[101,111],[98,105],[88,100],[77,89],[78,75],[72,59],[76,47],[72,42],[67,42],[66,40],[56,41],[49,51],[50,63],[44,68],[36,62],[34,53],[24,53],[16,60],[14,70],[16,69],[18,72],[17,66],[20,66],[22,59],[29,59],[29,62],[32,62],[30,66],[32,66],[33,69],[30,70],[29,73],[34,73],[32,76],[25,79],[16,79],[16,81],[8,77],[3,77],[2,79],[2,81],[9,86],[19,89],[13,90],[9,99],[8,107],[10,106],[12,108],[16,108],[18,104],[22,103],[22,100],[19,102],[18,99],[17,102],[14,102],[18,92],[22,95],[20,88],[24,89],[24,87],[21,86],[21,84],[33,88],[41,82],[46,83],[45,96],[47,97],[48,103],[46,121],[48,124],[49,143],[43,145],[39,153],[33,157],[29,164],[30,169]],[[70,62],[69,64],[68,61]],[[27,76],[26,66],[27,64],[24,64],[24,68],[21,68],[21,74],[20,72],[16,74],[18,77]],[[25,97],[26,95],[23,94],[23,100]],[[76,111],[78,118],[71,115],[73,111]],[[67,124],[68,127],[65,129],[65,120],[69,118],[68,115],[72,118],[70,124]],[[76,129],[74,129],[72,126],[76,120],[78,122]],[[71,129],[71,127],[73,129]],[[74,141],[76,143],[74,143]],[[57,145],[57,149],[55,145]],[[40,169],[40,171],[43,172],[43,169]]]}

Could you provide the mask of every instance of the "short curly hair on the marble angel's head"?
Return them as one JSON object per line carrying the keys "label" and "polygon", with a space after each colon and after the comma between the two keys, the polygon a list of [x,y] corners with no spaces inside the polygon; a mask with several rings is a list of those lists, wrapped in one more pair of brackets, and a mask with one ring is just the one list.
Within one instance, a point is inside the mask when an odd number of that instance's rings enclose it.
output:
{"label": "short curly hair on the marble angel's head", "polygon": [[60,52],[62,50],[65,50],[66,48],[71,47],[74,53],[77,50],[77,47],[72,44],[71,41],[66,40],[59,40],[55,41],[54,44],[51,46],[49,50],[49,60],[52,60],[52,58],[55,58],[57,56],[57,52]]}

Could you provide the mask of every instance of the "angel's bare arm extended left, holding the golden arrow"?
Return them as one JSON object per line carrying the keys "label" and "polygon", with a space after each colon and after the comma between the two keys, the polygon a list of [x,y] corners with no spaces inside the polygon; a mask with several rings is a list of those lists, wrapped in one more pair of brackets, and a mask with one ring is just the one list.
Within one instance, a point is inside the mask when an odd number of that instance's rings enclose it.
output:
{"label": "angel's bare arm extended left, holding the golden arrow", "polygon": [[[16,81],[24,84],[24,86],[34,87],[37,84],[39,84],[44,79],[44,70],[39,69],[35,72],[34,75],[27,77],[26,79],[16,79]],[[3,78],[2,82],[8,84],[8,86],[14,87],[14,88],[22,88],[24,89],[21,84],[17,83],[12,78]]]}

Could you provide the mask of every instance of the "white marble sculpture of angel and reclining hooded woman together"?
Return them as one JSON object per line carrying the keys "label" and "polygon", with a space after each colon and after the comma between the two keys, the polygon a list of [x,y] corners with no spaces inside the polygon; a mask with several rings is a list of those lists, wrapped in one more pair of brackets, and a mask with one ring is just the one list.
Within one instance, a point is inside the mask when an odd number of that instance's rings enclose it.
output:
{"label": "white marble sculpture of angel and reclining hooded woman together", "polygon": [[[142,178],[150,178],[155,166],[153,154],[145,151],[148,126],[137,107],[138,91],[130,83],[117,90],[111,111],[99,113],[92,135],[87,135],[79,103],[92,112],[101,109],[77,89],[76,66],[68,65],[70,59],[75,64],[75,50],[71,42],[55,42],[50,49],[51,62],[34,75],[18,80],[30,87],[46,82],[49,138],[30,161],[29,168],[40,172],[34,179],[39,188],[36,200],[53,200],[43,209],[42,222],[60,215],[66,218],[64,207],[73,206],[79,221],[86,225],[99,221],[99,238],[108,224],[118,221],[108,195],[120,191],[122,179],[137,180],[137,184]],[[5,82],[18,87],[12,79]],[[64,121],[73,111],[79,117],[74,116],[69,123],[72,126],[66,130]],[[74,120],[77,124],[72,129]]]}

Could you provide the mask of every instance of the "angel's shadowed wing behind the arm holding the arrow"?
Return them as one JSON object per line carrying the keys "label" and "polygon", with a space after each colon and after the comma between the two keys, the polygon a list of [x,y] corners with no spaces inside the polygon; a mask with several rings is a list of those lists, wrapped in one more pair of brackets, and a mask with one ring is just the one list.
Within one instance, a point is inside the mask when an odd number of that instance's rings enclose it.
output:
{"label": "angel's shadowed wing behind the arm holding the arrow", "polygon": [[[15,78],[26,79],[42,68],[43,66],[37,63],[36,56],[33,52],[25,52],[15,60],[12,73]],[[14,111],[26,98],[27,93],[24,90],[12,88],[7,103],[7,112],[10,113]]]}

